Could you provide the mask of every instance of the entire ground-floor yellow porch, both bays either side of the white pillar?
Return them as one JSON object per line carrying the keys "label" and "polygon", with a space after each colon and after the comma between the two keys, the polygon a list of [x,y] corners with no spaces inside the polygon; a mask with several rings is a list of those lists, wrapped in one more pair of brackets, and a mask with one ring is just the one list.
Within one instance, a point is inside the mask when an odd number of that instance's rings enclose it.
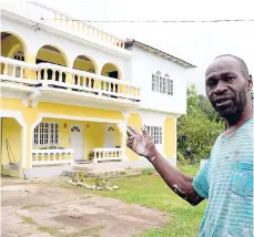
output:
{"label": "entire ground-floor yellow porch, both bays either side of the white pillar", "polygon": [[[39,173],[63,172],[79,164],[96,166],[103,162],[121,162],[124,153],[124,123],[75,121],[42,117],[31,131],[32,148],[29,168],[26,151],[27,127],[18,117],[1,117],[1,173],[28,176]],[[28,131],[29,132],[29,131]],[[94,167],[95,167],[94,166]],[[62,168],[61,168],[62,167]],[[52,173],[53,174],[53,173]],[[44,174],[45,175],[45,174]],[[33,176],[33,175],[32,175]]]}

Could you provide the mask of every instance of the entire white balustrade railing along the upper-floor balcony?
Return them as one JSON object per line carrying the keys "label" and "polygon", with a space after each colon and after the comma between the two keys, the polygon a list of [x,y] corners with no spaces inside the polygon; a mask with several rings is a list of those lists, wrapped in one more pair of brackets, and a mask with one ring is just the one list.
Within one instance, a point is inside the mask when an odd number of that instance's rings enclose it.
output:
{"label": "entire white balustrade railing along the upper-floor balcony", "polygon": [[140,87],[130,82],[51,63],[31,64],[0,56],[1,81],[40,87],[54,87],[98,96],[140,101]]}

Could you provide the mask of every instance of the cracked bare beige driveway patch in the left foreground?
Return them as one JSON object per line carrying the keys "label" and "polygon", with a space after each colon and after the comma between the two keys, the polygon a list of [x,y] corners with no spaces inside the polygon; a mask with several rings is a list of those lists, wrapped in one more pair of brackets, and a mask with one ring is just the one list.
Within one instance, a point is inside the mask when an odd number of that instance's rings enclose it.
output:
{"label": "cracked bare beige driveway patch in the left foreground", "polygon": [[61,187],[61,178],[22,182],[3,177],[2,236],[129,237],[167,219],[156,209]]}

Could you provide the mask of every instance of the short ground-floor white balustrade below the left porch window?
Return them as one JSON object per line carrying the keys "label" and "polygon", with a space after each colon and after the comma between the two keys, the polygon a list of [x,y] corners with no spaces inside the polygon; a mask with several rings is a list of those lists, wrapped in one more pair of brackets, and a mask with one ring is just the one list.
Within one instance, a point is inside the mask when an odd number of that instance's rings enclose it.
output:
{"label": "short ground-floor white balustrade below the left porch window", "polygon": [[32,166],[73,164],[73,150],[32,150]]}

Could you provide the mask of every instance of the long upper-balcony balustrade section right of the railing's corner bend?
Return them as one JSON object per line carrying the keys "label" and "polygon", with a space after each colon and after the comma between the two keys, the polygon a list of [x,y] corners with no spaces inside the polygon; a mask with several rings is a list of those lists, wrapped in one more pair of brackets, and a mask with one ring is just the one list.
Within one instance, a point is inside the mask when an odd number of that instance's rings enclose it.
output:
{"label": "long upper-balcony balustrade section right of the railing's corner bend", "polygon": [[93,92],[98,95],[140,100],[140,87],[130,82],[70,69],[51,63],[39,63],[37,78],[43,84],[75,89],[80,92]]}

